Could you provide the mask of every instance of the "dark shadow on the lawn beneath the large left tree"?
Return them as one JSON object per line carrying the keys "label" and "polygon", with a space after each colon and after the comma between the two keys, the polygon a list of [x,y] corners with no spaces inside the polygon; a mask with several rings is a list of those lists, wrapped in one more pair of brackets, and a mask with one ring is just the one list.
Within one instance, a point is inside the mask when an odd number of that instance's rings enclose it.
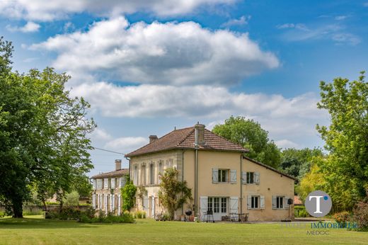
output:
{"label": "dark shadow on the lawn beneath the large left tree", "polygon": [[[76,220],[45,220],[35,218],[1,218],[0,229],[69,229],[69,228],[98,228],[112,223],[80,223]],[[120,223],[122,224],[122,223]]]}

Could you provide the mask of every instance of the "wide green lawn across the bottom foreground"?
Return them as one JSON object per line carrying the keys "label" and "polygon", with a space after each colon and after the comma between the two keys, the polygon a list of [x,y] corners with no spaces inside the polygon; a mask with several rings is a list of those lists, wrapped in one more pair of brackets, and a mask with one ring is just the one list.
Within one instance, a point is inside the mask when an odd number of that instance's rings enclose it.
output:
{"label": "wide green lawn across the bottom foreground", "polygon": [[0,244],[367,244],[368,232],[328,229],[307,235],[305,227],[280,224],[156,222],[81,224],[76,221],[0,219]]}

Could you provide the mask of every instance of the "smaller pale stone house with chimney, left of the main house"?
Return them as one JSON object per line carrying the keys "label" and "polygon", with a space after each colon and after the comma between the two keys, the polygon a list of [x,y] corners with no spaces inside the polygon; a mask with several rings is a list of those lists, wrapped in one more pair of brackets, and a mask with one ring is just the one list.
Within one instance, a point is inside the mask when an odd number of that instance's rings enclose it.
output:
{"label": "smaller pale stone house with chimney, left of the main house", "polygon": [[92,207],[105,213],[122,212],[120,188],[125,186],[129,169],[122,169],[122,160],[115,160],[115,171],[93,176]]}

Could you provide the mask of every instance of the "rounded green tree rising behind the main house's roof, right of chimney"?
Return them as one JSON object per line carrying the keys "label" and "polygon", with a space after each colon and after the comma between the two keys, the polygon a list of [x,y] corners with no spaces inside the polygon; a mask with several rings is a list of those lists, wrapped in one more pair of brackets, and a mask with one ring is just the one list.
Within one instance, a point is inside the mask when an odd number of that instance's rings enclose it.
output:
{"label": "rounded green tree rising behind the main house's roof, right of chimney", "polygon": [[224,124],[215,125],[212,131],[249,149],[249,157],[275,168],[280,165],[280,149],[275,142],[268,139],[268,132],[254,120],[231,116]]}

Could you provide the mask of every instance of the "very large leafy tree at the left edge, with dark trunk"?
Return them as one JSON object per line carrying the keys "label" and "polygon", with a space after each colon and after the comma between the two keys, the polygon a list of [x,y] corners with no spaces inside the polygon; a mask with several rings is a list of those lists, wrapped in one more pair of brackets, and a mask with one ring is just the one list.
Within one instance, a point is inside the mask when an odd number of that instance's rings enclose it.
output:
{"label": "very large leafy tree at the left edge, with dark trunk", "polygon": [[12,52],[0,38],[0,195],[22,217],[30,186],[62,198],[93,167],[87,134],[96,125],[86,117],[89,104],[64,88],[69,76],[51,68],[13,72]]}

